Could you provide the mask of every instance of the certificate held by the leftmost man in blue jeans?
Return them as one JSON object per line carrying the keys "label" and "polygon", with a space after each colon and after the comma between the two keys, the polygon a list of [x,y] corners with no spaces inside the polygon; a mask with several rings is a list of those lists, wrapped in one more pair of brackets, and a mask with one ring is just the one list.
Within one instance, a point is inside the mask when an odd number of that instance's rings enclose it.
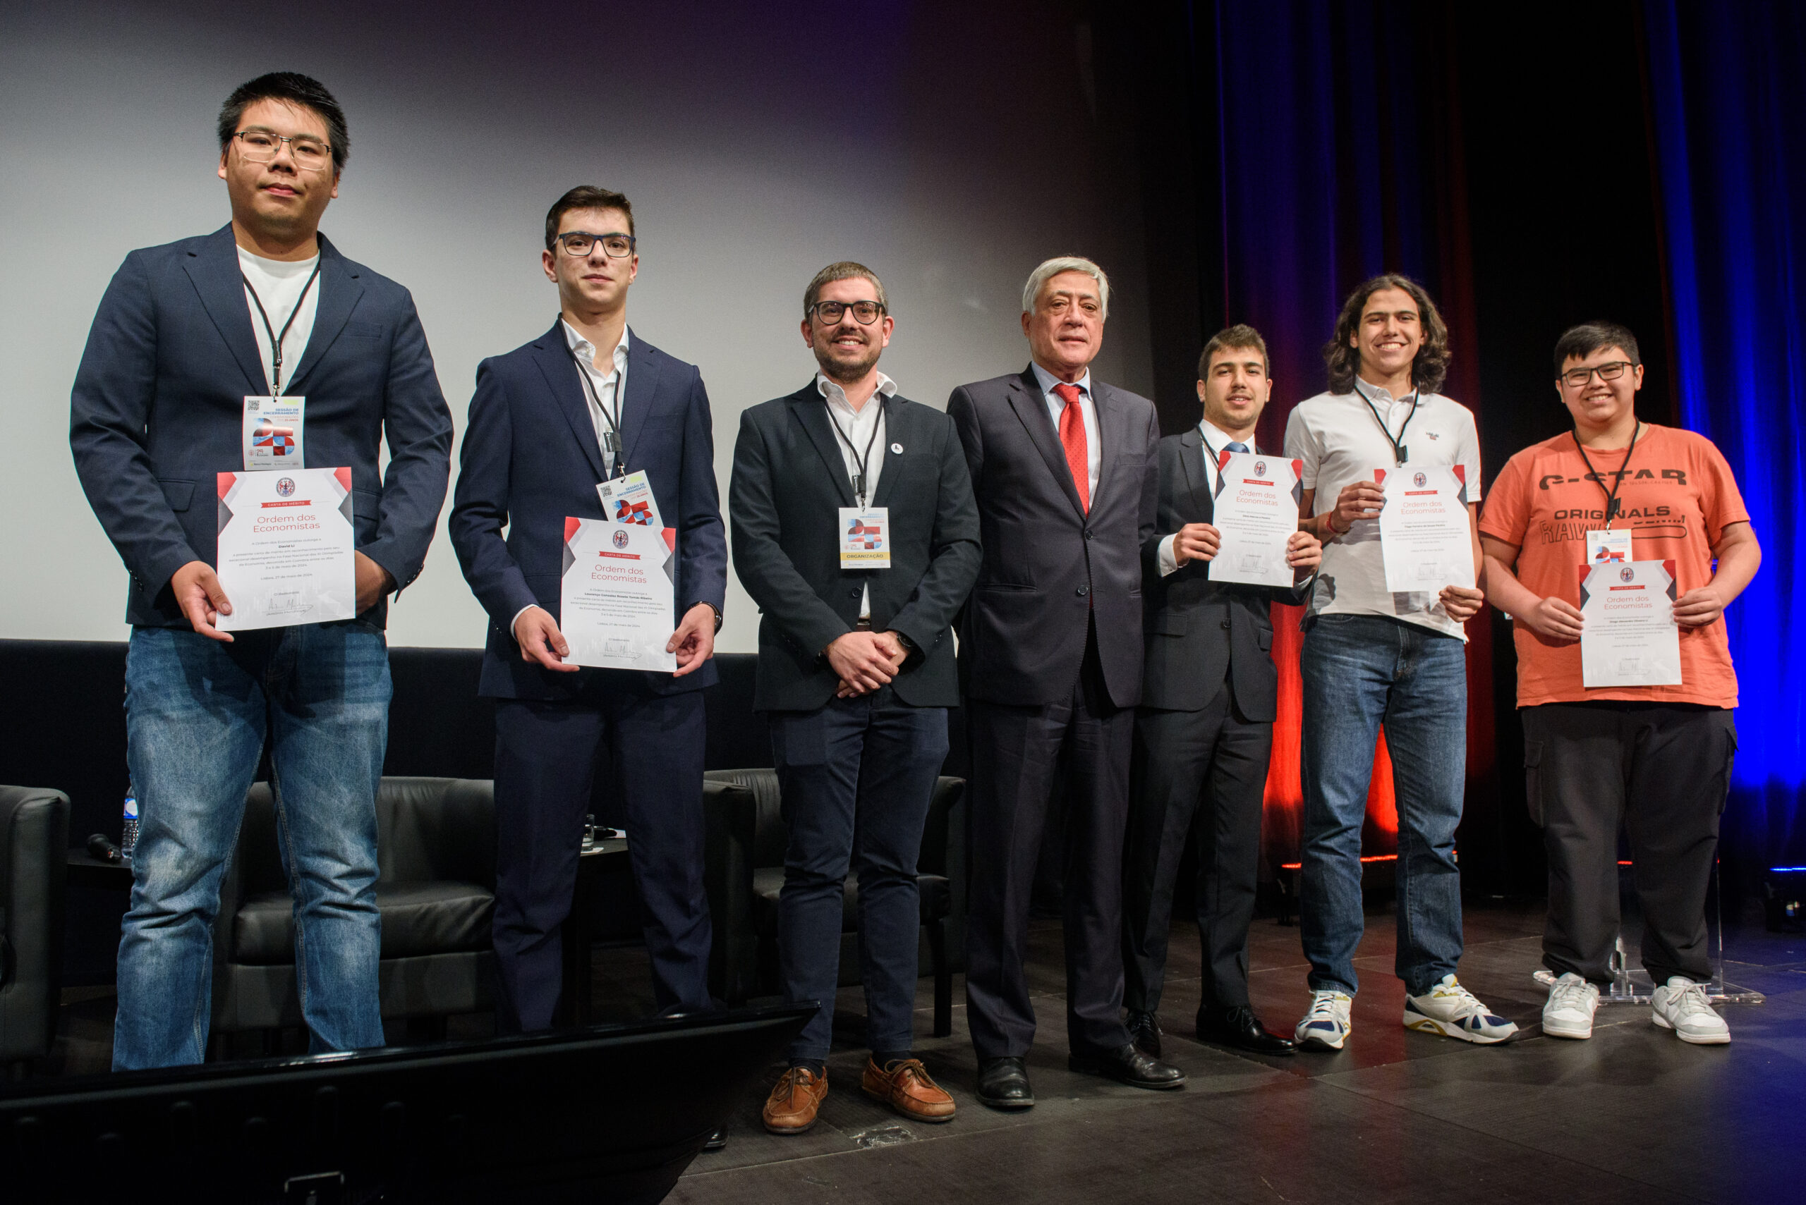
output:
{"label": "certificate held by the leftmost man in blue jeans", "polygon": [[220,473],[219,516],[220,631],[356,615],[350,469]]}

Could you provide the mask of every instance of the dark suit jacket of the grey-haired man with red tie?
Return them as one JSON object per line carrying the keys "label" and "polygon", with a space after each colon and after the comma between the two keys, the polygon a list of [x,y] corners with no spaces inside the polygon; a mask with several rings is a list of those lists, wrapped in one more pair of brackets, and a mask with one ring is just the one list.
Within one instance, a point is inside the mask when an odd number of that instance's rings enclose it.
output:
{"label": "dark suit jacket of the grey-haired man with red tie", "polygon": [[1159,487],[1154,402],[1091,382],[1098,489],[1089,514],[1031,368],[963,384],[946,402],[979,501],[984,561],[961,626],[966,696],[1042,705],[1078,682],[1096,617],[1111,702],[1141,694],[1141,543]]}

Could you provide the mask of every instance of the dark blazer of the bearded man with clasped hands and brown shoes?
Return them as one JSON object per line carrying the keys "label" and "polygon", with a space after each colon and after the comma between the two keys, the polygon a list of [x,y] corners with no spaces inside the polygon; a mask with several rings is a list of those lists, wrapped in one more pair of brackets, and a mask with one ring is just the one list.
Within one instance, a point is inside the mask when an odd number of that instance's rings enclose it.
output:
{"label": "dark blazer of the bearded man with clasped hands and brown shoes", "polygon": [[979,512],[952,420],[907,397],[885,408],[870,503],[890,518],[890,568],[840,568],[840,507],[854,505],[847,462],[815,381],[740,415],[733,447],[733,565],[762,612],[759,711],[813,711],[840,676],[822,657],[852,631],[870,588],[872,628],[916,646],[892,691],[912,707],[957,707],[952,621],[979,574]]}

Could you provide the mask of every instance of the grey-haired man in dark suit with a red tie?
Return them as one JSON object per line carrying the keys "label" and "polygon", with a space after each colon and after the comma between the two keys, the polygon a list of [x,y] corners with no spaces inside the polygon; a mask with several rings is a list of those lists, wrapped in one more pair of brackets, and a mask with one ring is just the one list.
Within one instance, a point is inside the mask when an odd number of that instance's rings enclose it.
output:
{"label": "grey-haired man in dark suit with a red tie", "polygon": [[954,390],[984,561],[961,621],[972,714],[966,1005],[979,1100],[1035,1104],[1024,961],[1047,803],[1066,788],[1071,1066],[1138,1088],[1185,1075],[1122,1021],[1122,850],[1141,693],[1141,543],[1154,532],[1154,404],[1091,379],[1109,280],[1047,260],[1022,290],[1028,370]]}

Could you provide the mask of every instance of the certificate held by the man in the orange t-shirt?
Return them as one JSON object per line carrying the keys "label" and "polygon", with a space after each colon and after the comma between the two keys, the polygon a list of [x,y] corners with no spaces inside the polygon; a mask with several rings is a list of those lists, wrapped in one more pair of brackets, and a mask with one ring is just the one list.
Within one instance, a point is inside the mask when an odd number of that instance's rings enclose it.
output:
{"label": "certificate held by the man in the orange t-shirt", "polygon": [[1674,561],[1580,566],[1580,684],[1680,685]]}

